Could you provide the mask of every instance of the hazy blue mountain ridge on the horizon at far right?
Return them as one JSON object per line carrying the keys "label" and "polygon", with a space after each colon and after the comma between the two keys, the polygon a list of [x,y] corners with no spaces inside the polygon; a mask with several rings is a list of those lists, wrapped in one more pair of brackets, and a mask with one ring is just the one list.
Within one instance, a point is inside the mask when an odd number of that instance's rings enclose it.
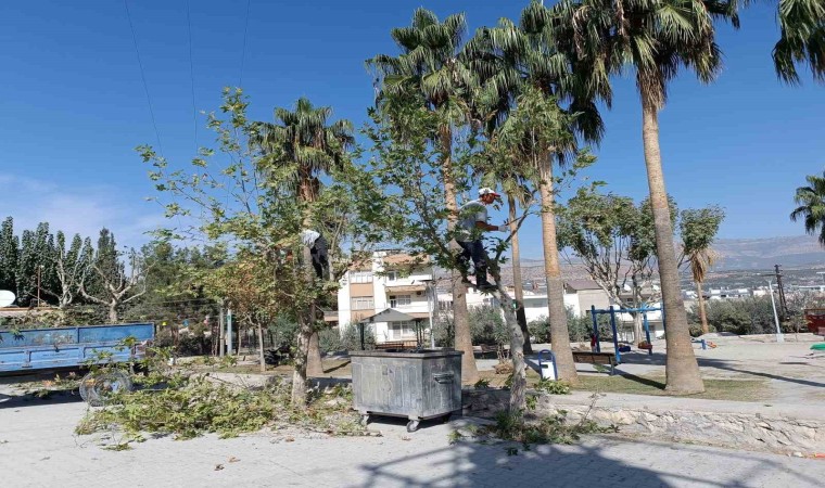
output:
{"label": "hazy blue mountain ridge on the horizon at far right", "polygon": [[825,249],[810,235],[766,239],[720,239],[713,244],[720,260],[714,269],[825,267]]}

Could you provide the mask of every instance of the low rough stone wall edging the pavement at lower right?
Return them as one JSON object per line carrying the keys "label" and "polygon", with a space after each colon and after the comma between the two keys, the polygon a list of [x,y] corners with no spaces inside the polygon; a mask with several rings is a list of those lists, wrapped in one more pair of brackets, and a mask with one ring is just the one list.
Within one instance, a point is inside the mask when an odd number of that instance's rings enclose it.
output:
{"label": "low rough stone wall edging the pavement at lower right", "polygon": [[[536,395],[536,394],[533,394]],[[466,390],[465,414],[490,418],[507,407],[507,390]],[[674,399],[677,400],[677,399]],[[690,400],[684,401],[689,403]],[[729,403],[728,403],[729,404]],[[569,422],[583,416],[599,425],[615,425],[620,435],[657,440],[697,442],[782,453],[825,452],[825,421],[783,415],[673,408],[629,408],[610,404],[610,398],[591,395],[541,395],[536,416],[566,412]]]}

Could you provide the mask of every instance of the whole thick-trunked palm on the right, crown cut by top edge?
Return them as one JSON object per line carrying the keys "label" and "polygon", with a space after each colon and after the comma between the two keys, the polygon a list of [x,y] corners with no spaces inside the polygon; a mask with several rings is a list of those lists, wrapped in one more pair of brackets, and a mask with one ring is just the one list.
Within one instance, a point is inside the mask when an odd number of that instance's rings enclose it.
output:
{"label": "whole thick-trunked palm on the right, crown cut by top edge", "polygon": [[567,0],[554,7],[557,33],[578,56],[605,75],[635,69],[642,98],[642,138],[650,203],[656,222],[659,278],[668,317],[667,389],[705,390],[690,345],[678,286],[673,224],[659,149],[659,111],[668,84],[681,67],[710,82],[721,68],[713,17],[729,16],[729,5],[702,0]]}

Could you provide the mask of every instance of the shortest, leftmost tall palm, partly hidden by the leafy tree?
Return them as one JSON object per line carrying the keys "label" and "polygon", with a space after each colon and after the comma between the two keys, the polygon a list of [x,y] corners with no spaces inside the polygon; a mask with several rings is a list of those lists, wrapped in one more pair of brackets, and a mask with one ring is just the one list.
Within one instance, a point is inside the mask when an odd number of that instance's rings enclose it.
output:
{"label": "shortest, leftmost tall palm, partly hidden by the leafy tree", "polygon": [[[277,107],[275,124],[255,123],[253,125],[255,136],[251,144],[264,154],[262,164],[266,168],[263,169],[291,172],[294,177],[293,183],[291,188],[284,190],[296,195],[304,205],[316,201],[321,185],[320,176],[328,174],[333,167],[340,168],[346,158],[347,151],[354,144],[352,123],[341,119],[328,124],[331,115],[331,107],[315,107],[309,100],[301,98],[295,102],[293,111]],[[313,227],[308,209],[305,210],[303,220],[304,228]],[[315,222],[315,224],[320,226],[321,222]],[[309,267],[308,251],[305,249],[304,254],[304,264]],[[310,275],[314,274],[310,273]],[[306,317],[301,319],[299,355],[292,383],[293,401],[296,398],[306,397],[303,388],[306,385],[307,374],[323,373],[315,321],[316,306],[313,304]]]}

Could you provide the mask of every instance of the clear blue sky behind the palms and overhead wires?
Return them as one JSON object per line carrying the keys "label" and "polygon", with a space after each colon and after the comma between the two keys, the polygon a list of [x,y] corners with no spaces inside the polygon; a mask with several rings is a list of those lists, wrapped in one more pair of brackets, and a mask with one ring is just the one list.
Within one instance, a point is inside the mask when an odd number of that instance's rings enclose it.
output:
{"label": "clear blue sky behind the palms and overhead wires", "polygon": [[[241,73],[248,1],[190,0],[191,77],[186,0],[131,0],[129,9],[163,152],[186,164],[195,146],[192,91],[196,108],[212,111],[220,89],[242,76],[255,118],[305,95],[358,126],[373,95],[364,60],[396,52],[390,29],[408,25],[415,8],[464,11],[473,30],[517,17],[525,4],[251,0]],[[660,117],[669,192],[681,207],[723,206],[722,237],[801,234],[788,220],[794,190],[825,167],[825,90],[808,73],[801,87],[777,81],[774,9],[746,11],[739,31],[721,26],[719,80],[701,86],[685,74]],[[0,216],[12,215],[18,230],[48,220],[67,232],[96,235],[107,226],[123,243],[145,240],[163,218],[143,201],[152,189],[134,147],[156,138],[124,3],[3,2],[0,43]],[[614,90],[587,176],[642,198],[638,97],[631,79],[617,79]],[[196,143],[208,145],[203,125],[199,116]],[[525,255],[540,255],[535,222],[522,242]]]}

